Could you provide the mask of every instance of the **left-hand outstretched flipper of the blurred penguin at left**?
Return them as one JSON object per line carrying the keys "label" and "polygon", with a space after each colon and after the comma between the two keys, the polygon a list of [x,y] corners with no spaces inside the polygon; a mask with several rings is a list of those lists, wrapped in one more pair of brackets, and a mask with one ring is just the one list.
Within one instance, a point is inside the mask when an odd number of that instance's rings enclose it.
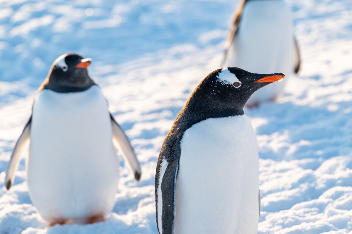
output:
{"label": "left-hand outstretched flipper of the blurred penguin at left", "polygon": [[8,162],[7,169],[6,169],[6,176],[5,176],[5,184],[6,184],[7,190],[10,189],[13,183],[13,180],[15,178],[15,173],[17,171],[18,164],[20,163],[23,149],[27,146],[27,143],[29,143],[30,141],[31,123],[32,123],[32,116],[28,120],[26,126],[22,131],[22,134],[18,138],[16,145],[12,151],[10,161]]}

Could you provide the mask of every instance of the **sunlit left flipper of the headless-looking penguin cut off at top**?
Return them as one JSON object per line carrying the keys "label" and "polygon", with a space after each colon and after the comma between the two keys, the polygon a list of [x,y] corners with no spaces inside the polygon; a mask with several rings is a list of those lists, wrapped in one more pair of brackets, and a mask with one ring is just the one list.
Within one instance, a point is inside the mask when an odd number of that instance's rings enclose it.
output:
{"label": "sunlit left flipper of the headless-looking penguin cut off at top", "polygon": [[239,4],[239,6],[237,8],[236,13],[233,16],[230,30],[228,32],[228,35],[227,35],[227,38],[225,41],[224,58],[222,59],[221,67],[225,66],[225,62],[226,62],[227,55],[228,55],[228,50],[230,49],[233,38],[234,38],[235,34],[237,33],[238,27],[240,26],[242,11],[243,11],[243,7],[244,7],[246,1],[247,0],[242,0],[242,2]]}

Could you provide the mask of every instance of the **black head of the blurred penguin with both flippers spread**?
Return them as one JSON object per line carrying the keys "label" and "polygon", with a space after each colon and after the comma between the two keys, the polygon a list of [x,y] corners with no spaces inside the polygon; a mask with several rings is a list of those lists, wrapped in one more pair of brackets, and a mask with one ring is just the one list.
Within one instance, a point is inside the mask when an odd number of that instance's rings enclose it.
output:
{"label": "black head of the blurred penguin with both flippers spread", "polygon": [[59,56],[51,66],[46,88],[56,92],[83,91],[94,84],[90,79],[87,67],[91,59],[83,59],[76,53]]}

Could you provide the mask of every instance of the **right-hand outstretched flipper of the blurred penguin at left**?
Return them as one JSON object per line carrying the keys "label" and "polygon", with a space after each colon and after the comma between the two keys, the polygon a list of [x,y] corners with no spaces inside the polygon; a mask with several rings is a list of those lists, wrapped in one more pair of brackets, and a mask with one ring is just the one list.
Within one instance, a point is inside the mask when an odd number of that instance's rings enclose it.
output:
{"label": "right-hand outstretched flipper of the blurred penguin at left", "polygon": [[133,151],[130,141],[128,140],[125,132],[122,130],[120,125],[115,121],[114,117],[110,113],[113,140],[117,143],[119,150],[122,155],[130,164],[131,170],[134,173],[136,180],[140,179],[142,171],[140,169],[139,161],[136,154]]}

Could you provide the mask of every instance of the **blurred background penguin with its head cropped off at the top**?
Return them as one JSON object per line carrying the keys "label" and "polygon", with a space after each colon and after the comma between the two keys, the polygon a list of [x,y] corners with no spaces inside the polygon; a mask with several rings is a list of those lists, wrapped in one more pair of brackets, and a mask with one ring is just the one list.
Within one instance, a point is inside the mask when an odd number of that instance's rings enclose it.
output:
{"label": "blurred background penguin with its head cropped off at the top", "polygon": [[[242,0],[230,26],[222,64],[255,73],[298,73],[300,52],[286,2]],[[257,107],[261,102],[276,100],[284,85],[285,80],[260,89],[246,106]]]}

